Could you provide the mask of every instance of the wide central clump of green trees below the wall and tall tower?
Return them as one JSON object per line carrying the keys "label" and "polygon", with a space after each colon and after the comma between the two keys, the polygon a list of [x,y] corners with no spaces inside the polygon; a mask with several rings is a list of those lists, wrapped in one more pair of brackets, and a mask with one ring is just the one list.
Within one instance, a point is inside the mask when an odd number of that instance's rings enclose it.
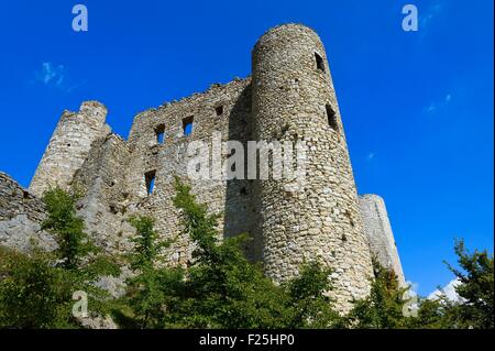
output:
{"label": "wide central clump of green trees below the wall and tall tower", "polygon": [[[302,267],[299,277],[275,285],[242,251],[246,234],[220,240],[218,215],[197,202],[190,187],[176,179],[174,204],[184,234],[194,242],[187,267],[157,267],[160,240],[153,221],[134,221],[138,229],[134,268],[128,298],[142,328],[324,328],[338,315],[326,293],[329,271]],[[147,267],[147,273],[144,268]],[[131,325],[132,326],[132,325]]]}

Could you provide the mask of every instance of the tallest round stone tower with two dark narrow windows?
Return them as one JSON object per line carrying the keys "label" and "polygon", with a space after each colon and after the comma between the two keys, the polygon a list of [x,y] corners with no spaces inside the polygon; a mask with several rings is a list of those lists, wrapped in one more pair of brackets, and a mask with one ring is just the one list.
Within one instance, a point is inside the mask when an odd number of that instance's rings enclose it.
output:
{"label": "tallest round stone tower with two dark narrow windows", "polygon": [[284,282],[318,260],[333,270],[330,295],[345,312],[367,295],[372,263],[324,47],[311,29],[285,24],[258,40],[252,59],[254,138],[306,144],[298,190],[286,179],[256,184],[266,273]]}

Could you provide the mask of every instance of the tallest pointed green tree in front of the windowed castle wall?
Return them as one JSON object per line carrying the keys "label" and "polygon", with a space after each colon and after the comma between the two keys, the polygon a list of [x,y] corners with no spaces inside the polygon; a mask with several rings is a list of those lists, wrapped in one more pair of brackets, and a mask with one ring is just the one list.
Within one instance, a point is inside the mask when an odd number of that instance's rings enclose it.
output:
{"label": "tallest pointed green tree in front of the windowed castle wall", "polygon": [[[172,307],[165,326],[193,328],[282,328],[286,323],[284,289],[264,276],[242,253],[246,234],[219,240],[218,215],[196,201],[190,187],[176,179],[175,206],[182,211],[185,234],[195,242],[193,262],[180,304]],[[178,297],[178,296],[177,296]]]}

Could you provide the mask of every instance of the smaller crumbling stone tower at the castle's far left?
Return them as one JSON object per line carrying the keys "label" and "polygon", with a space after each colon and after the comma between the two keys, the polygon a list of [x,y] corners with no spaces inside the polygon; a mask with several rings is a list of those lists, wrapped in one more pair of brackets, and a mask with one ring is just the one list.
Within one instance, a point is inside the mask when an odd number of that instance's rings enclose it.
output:
{"label": "smaller crumbling stone tower at the castle's far left", "polygon": [[64,111],[30,185],[36,196],[51,186],[67,188],[81,167],[91,143],[110,132],[105,124],[107,108],[98,101],[85,101],[79,112]]}

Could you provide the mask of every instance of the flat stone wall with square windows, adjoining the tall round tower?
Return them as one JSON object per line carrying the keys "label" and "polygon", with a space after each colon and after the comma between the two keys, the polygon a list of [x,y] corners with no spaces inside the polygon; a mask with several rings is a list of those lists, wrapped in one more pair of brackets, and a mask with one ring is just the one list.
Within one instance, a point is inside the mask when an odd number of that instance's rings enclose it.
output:
{"label": "flat stone wall with square windows, adjoining the tall round tower", "polygon": [[[207,204],[211,212],[223,215],[219,230],[224,230],[226,237],[252,232],[254,220],[250,213],[254,209],[248,196],[251,191],[248,180],[188,179],[186,169],[187,146],[193,141],[209,144],[210,155],[215,132],[221,133],[219,142],[245,142],[250,134],[250,79],[234,79],[136,116],[129,136],[132,153],[127,175],[130,201],[134,204],[132,210],[135,212],[155,218],[155,228],[164,238],[175,239],[166,254],[172,262],[187,262],[193,250],[188,238],[182,234],[179,213],[173,205],[175,175],[191,185],[199,202]],[[185,135],[184,122],[190,119],[193,132]],[[156,130],[162,125],[165,138],[158,143]],[[145,174],[151,173],[155,173],[155,184],[148,195]]]}

